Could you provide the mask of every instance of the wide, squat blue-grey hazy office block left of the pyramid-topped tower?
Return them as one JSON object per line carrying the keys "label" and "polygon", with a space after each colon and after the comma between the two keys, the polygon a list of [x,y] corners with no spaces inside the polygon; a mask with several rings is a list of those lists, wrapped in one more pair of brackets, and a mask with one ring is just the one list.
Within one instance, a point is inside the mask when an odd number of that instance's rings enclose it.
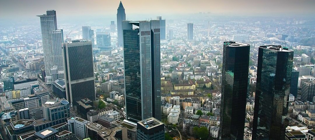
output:
{"label": "wide, squat blue-grey hazy office block left of the pyramid-topped tower", "polygon": [[96,46],[100,50],[112,50],[109,32],[96,32]]}

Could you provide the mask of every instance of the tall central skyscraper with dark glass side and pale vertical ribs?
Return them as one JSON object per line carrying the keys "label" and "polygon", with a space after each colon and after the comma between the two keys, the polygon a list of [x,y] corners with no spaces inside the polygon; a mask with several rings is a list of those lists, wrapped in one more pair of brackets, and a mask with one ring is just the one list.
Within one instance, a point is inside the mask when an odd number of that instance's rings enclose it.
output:
{"label": "tall central skyscraper with dark glass side and pale vertical ribs", "polygon": [[160,21],[122,23],[127,120],[161,120]]}

